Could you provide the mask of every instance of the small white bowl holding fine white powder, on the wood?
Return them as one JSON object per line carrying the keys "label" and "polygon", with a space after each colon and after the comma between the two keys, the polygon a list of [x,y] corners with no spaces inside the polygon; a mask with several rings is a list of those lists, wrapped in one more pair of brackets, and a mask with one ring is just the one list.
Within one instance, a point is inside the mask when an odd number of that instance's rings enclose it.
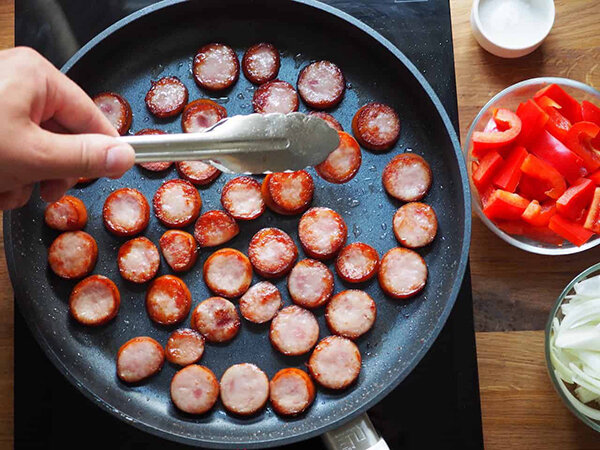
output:
{"label": "small white bowl holding fine white powder, on the wood", "polygon": [[471,30],[493,55],[519,58],[546,39],[555,14],[553,0],[473,0]]}

